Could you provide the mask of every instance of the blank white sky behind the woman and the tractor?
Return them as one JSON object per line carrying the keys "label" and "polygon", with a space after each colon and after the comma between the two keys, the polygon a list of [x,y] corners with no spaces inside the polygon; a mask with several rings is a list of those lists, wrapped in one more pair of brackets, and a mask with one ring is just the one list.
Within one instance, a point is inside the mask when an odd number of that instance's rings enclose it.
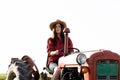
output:
{"label": "blank white sky behind the woman and the tractor", "polygon": [[120,0],[0,0],[0,73],[12,57],[29,55],[40,72],[46,64],[49,24],[61,19],[81,51],[120,53]]}

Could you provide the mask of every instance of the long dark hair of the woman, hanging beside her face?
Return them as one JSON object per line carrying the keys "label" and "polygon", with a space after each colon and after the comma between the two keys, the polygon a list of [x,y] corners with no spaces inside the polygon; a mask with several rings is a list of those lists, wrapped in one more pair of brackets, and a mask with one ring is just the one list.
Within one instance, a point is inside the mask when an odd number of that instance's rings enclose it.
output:
{"label": "long dark hair of the woman, hanging beside her face", "polygon": [[[61,25],[61,33],[60,33],[60,37],[61,37],[62,43],[64,43],[64,33],[63,33],[63,29],[64,29],[64,27],[63,27],[62,24],[60,24],[60,25]],[[52,42],[53,42],[54,45],[57,44],[57,41],[56,41],[57,33],[56,33],[55,28],[56,28],[56,24],[54,25],[54,28],[53,28],[53,30],[52,30],[53,35],[52,35],[52,37],[51,37],[51,38],[52,38]]]}

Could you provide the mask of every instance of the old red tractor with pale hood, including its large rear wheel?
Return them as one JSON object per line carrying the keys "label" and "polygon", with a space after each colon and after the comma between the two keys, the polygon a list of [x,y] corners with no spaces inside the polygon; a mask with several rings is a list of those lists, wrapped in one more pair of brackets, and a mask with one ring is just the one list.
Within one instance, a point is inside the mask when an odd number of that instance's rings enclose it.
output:
{"label": "old red tractor with pale hood, including its large rear wheel", "polygon": [[[64,30],[65,46],[60,51],[64,56],[59,58],[59,80],[120,80],[120,56],[109,50],[93,50],[80,52],[73,48],[74,52],[68,53],[68,33]],[[50,80],[53,74],[48,65],[42,73],[29,56],[22,59],[12,58],[8,68],[6,80]]]}

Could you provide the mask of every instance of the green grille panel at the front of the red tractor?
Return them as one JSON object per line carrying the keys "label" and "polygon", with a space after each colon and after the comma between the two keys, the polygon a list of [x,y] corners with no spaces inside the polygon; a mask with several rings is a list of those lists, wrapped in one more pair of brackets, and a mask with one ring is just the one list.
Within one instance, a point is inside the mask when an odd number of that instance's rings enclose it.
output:
{"label": "green grille panel at the front of the red tractor", "polygon": [[118,80],[118,61],[100,60],[97,62],[96,80]]}

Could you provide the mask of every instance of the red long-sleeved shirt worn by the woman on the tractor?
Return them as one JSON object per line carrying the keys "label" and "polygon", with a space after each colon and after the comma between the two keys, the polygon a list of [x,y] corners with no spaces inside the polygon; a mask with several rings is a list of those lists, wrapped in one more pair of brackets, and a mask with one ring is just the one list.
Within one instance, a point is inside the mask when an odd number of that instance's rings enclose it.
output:
{"label": "red long-sleeved shirt worn by the woman on the tractor", "polygon": [[[73,44],[71,39],[68,37],[68,47],[69,48],[73,48]],[[58,59],[63,56],[63,52],[59,52],[58,55],[54,55],[54,56],[50,56],[50,52],[51,51],[55,51],[55,50],[60,50],[64,48],[64,43],[62,43],[62,41],[57,38],[57,44],[54,46],[53,42],[51,41],[51,38],[48,39],[47,41],[47,52],[48,52],[48,64],[50,62],[58,62]],[[70,50],[70,52],[73,50]]]}

